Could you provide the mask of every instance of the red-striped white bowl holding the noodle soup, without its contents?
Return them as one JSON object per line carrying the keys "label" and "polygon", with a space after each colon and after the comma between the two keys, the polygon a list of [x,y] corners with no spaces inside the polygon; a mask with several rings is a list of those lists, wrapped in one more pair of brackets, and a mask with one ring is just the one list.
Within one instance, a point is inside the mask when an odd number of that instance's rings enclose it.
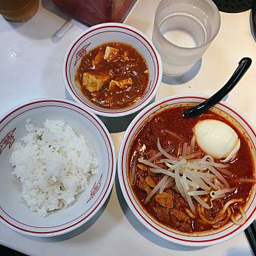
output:
{"label": "red-striped white bowl holding the noodle soup, without its contents", "polygon": [[[144,127],[144,125],[155,115],[163,112],[164,110],[170,109],[172,107],[178,106],[194,106],[198,103],[205,101],[207,97],[200,94],[180,94],[172,97],[167,97],[155,103],[152,103],[146,107],[136,118],[133,119],[125,136],[120,145],[120,151],[118,155],[118,178],[120,182],[120,188],[125,197],[125,201],[131,212],[142,222],[142,225],[159,235],[159,237],[169,240],[170,242],[175,242],[177,244],[183,244],[186,246],[209,246],[212,244],[218,244],[233,238],[238,233],[244,231],[248,225],[255,220],[256,216],[256,185],[254,183],[251,195],[248,197],[244,205],[244,212],[246,213],[246,220],[242,225],[234,225],[230,222],[220,229],[212,229],[205,232],[193,232],[185,233],[178,231],[177,229],[172,229],[158,222],[156,218],[153,218],[146,209],[142,206],[142,203],[138,200],[135,192],[131,188],[131,183],[129,181],[129,153],[131,150],[131,145],[138,132]],[[240,133],[243,134],[248,143],[248,148],[251,151],[253,159],[253,172],[255,177],[255,164],[256,164],[256,138],[255,138],[255,128],[253,125],[234,107],[221,101],[212,108],[212,112],[222,116],[226,120],[238,129]],[[142,141],[140,141],[143,144]]]}

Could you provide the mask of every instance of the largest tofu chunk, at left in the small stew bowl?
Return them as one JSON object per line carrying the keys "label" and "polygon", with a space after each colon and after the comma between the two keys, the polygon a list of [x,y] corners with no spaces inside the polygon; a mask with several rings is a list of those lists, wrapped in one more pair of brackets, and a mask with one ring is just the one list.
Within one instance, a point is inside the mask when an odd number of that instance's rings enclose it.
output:
{"label": "largest tofu chunk, at left in the small stew bowl", "polygon": [[98,74],[83,74],[83,86],[89,92],[95,92],[97,90],[101,90],[103,88],[105,82],[109,79],[109,75],[98,75]]}

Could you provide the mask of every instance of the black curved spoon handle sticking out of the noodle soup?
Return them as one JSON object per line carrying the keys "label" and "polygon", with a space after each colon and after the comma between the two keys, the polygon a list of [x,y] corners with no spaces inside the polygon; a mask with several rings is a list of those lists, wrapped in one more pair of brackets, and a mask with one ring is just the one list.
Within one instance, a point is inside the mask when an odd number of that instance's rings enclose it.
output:
{"label": "black curved spoon handle sticking out of the noodle soup", "polygon": [[185,110],[182,113],[182,116],[185,118],[199,116],[206,110],[209,110],[209,108],[213,107],[216,103],[221,101],[235,87],[235,85],[238,84],[238,81],[240,81],[240,79],[246,73],[248,68],[251,66],[251,63],[252,60],[250,57],[243,57],[239,62],[238,68],[235,69],[235,72],[233,73],[232,77],[230,77],[229,81],[227,81],[225,86],[223,86],[220,90],[218,90],[218,92],[216,92],[216,94],[214,94],[206,101],[203,101],[199,105]]}

